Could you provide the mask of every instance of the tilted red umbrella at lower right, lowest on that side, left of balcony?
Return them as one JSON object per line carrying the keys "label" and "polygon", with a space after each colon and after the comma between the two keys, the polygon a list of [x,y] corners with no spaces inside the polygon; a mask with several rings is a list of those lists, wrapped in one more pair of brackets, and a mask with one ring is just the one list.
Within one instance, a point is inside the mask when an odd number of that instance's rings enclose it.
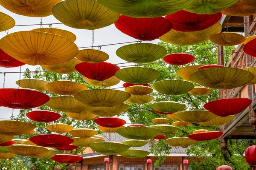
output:
{"label": "tilted red umbrella at lower right, lowest on that side, left of balcony", "polygon": [[195,141],[209,141],[212,139],[217,139],[223,134],[223,132],[218,131],[208,131],[208,132],[201,132],[201,133],[193,133],[188,135],[189,139]]}

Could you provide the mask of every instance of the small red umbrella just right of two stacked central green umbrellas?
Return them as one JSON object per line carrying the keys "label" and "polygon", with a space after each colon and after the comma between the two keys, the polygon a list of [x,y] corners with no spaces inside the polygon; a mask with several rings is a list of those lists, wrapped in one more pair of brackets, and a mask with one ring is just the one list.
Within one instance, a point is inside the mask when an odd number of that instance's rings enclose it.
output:
{"label": "small red umbrella just right of two stacked central green umbrellas", "polygon": [[172,53],[163,57],[163,60],[172,65],[185,65],[194,61],[195,57],[186,53]]}

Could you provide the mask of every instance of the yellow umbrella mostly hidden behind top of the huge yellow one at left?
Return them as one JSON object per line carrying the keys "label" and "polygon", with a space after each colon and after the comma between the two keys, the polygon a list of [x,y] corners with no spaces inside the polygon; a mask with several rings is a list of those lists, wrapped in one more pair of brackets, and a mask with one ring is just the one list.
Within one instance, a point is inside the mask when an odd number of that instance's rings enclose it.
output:
{"label": "yellow umbrella mostly hidden behind top of the huge yellow one at left", "polygon": [[60,35],[62,37],[66,37],[67,39],[71,41],[76,41],[76,35],[73,34],[70,31],[61,29],[61,28],[37,28],[37,29],[32,29],[31,31],[39,31],[39,32],[47,32],[55,35]]}

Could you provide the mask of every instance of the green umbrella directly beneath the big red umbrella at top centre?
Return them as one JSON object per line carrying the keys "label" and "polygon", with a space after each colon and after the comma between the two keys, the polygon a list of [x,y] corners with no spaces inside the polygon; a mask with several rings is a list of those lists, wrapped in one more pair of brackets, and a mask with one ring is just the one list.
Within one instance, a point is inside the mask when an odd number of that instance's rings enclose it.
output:
{"label": "green umbrella directly beneath the big red umbrella at top centre", "polygon": [[[128,27],[127,27],[128,28]],[[147,63],[163,58],[166,48],[151,43],[135,43],[117,49],[116,55],[128,62]]]}

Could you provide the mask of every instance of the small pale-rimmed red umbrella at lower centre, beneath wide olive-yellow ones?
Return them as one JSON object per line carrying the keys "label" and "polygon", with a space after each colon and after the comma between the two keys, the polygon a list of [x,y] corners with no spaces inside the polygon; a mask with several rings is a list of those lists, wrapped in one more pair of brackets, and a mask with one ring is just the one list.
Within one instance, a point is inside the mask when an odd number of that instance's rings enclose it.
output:
{"label": "small pale-rimmed red umbrella at lower centre, beneath wide olive-yellow ones", "polygon": [[94,122],[102,127],[121,127],[125,125],[126,121],[117,117],[99,117],[94,119]]}

